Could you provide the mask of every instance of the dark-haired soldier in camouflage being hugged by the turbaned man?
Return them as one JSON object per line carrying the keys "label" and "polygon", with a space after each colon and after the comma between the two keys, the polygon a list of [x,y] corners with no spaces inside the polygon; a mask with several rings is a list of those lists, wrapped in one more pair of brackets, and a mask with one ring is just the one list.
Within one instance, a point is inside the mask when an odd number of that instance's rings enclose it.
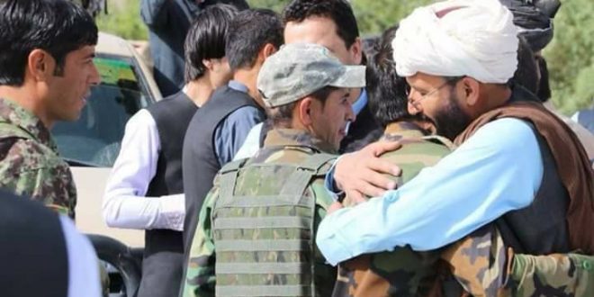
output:
{"label": "dark-haired soldier in camouflage being hugged by the turbaned man", "polygon": [[[383,139],[398,140],[402,148],[382,158],[401,166],[398,184],[408,182],[425,166],[445,157],[454,145],[427,136],[431,126],[415,119],[407,108],[407,84],[397,76],[392,59],[392,36],[386,31],[367,65],[370,108],[385,127]],[[426,129],[421,129],[424,127]],[[355,202],[347,197],[343,204]],[[509,260],[511,259],[511,260]],[[515,255],[499,230],[490,224],[450,247],[415,252],[396,247],[392,252],[356,257],[342,263],[333,295],[338,296],[533,296],[594,295],[592,257],[580,254]],[[452,277],[454,276],[454,277]]]}

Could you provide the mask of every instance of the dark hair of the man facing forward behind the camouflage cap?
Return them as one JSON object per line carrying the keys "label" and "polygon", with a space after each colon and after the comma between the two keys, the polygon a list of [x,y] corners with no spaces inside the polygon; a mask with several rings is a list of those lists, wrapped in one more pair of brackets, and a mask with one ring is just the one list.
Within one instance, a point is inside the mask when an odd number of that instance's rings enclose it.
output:
{"label": "dark hair of the man facing forward behind the camouflage cap", "polygon": [[347,0],[293,0],[284,7],[283,22],[301,23],[311,17],[327,17],[337,25],[337,34],[347,49],[359,37],[353,8]]}

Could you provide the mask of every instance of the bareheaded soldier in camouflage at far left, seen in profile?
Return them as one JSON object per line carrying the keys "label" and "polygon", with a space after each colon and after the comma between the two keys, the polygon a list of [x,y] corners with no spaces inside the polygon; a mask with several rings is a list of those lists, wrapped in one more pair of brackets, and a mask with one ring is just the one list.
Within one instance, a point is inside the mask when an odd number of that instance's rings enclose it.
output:
{"label": "bareheaded soldier in camouflage at far left, seen in profile", "polygon": [[70,2],[0,4],[0,187],[71,218],[76,188],[49,129],[76,120],[99,83],[96,42],[93,18]]}

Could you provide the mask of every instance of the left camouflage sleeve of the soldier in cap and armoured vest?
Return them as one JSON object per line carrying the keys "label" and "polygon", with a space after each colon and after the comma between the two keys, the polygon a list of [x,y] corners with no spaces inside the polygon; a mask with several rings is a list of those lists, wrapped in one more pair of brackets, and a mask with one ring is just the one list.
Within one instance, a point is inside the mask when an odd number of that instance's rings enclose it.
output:
{"label": "left camouflage sleeve of the soldier in cap and armoured vest", "polygon": [[190,256],[185,264],[183,296],[214,296],[214,241],[211,235],[211,211],[219,196],[215,186],[208,193],[194,232]]}

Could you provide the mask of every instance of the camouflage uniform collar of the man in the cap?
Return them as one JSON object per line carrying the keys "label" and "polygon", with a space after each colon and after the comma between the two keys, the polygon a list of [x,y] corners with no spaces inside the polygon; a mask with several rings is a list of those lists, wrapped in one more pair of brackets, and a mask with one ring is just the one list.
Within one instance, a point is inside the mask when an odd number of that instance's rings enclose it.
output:
{"label": "camouflage uniform collar of the man in the cap", "polygon": [[312,137],[307,131],[295,129],[269,130],[264,147],[308,147],[328,154],[337,153],[328,142]]}

